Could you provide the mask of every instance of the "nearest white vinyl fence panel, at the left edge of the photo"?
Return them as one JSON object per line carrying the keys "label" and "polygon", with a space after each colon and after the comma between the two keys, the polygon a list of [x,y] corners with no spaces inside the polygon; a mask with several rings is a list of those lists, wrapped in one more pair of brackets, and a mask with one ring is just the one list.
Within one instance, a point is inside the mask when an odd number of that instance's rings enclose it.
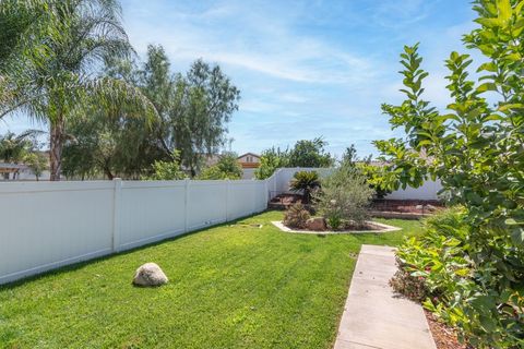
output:
{"label": "nearest white vinyl fence panel, at the left edge of the photo", "polygon": [[0,183],[0,284],[112,250],[112,182]]}

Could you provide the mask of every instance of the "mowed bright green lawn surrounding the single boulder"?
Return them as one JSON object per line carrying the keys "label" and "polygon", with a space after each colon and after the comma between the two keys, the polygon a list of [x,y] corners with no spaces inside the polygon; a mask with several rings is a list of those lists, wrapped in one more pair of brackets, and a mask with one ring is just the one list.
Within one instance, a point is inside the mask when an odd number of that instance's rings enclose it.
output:
{"label": "mowed bright green lawn surrounding the single boulder", "polygon": [[[2,348],[331,348],[362,243],[402,231],[283,232],[269,212],[0,287]],[[263,228],[250,224],[262,224]],[[138,288],[145,262],[169,284]]]}

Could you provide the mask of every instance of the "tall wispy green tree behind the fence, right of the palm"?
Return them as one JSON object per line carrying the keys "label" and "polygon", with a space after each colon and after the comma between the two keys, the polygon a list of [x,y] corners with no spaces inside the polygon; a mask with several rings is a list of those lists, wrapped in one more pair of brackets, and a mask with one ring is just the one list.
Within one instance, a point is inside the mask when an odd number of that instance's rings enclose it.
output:
{"label": "tall wispy green tree behind the fence, right of the palm", "polygon": [[150,46],[141,86],[159,113],[154,124],[159,147],[195,176],[205,156],[226,142],[227,123],[238,109],[240,92],[218,65],[196,60],[186,75],[170,73],[162,46]]}

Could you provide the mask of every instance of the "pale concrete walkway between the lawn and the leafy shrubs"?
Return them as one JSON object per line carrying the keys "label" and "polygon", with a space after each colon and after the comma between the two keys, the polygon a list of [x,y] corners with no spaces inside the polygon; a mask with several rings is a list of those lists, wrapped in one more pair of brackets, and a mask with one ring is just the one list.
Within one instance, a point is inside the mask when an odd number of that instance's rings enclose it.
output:
{"label": "pale concrete walkway between the lawn and the leafy shrubs", "polygon": [[422,308],[389,286],[394,249],[362,245],[335,349],[436,349]]}

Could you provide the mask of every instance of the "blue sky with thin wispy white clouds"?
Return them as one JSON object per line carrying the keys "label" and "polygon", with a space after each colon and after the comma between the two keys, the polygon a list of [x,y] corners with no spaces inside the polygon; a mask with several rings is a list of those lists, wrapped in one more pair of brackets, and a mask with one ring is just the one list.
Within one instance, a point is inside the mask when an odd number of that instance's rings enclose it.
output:
{"label": "blue sky with thin wispy white clouds", "polygon": [[[464,51],[461,36],[474,27],[465,0],[123,0],[122,8],[141,57],[160,44],[174,71],[203,58],[240,88],[229,124],[238,153],[315,136],[337,155],[352,143],[361,156],[374,153],[372,140],[395,135],[380,105],[401,100],[403,45],[420,41],[427,99],[444,108],[443,60]],[[0,132],[27,127],[9,118]]]}

